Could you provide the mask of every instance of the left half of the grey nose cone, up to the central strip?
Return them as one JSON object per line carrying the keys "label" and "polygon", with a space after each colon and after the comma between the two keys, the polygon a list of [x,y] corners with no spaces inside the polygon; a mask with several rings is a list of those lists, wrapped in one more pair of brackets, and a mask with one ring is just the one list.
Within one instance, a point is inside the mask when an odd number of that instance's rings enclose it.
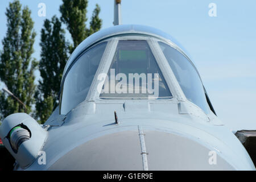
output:
{"label": "left half of the grey nose cone, up to the central strip", "polygon": [[89,140],[57,160],[50,170],[143,170],[138,131]]}

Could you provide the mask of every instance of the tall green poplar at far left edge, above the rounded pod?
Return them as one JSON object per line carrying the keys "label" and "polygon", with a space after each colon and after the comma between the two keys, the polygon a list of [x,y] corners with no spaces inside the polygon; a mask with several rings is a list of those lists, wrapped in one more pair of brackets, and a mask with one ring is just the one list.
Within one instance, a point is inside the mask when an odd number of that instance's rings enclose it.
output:
{"label": "tall green poplar at far left edge, above the rounded pod", "polygon": [[[18,0],[9,3],[6,9],[7,32],[2,40],[0,55],[0,79],[7,88],[27,106],[31,112],[34,104],[35,76],[37,62],[32,58],[35,42],[34,22],[28,7],[22,9]],[[24,107],[12,97],[0,91],[0,115],[24,112]]]}

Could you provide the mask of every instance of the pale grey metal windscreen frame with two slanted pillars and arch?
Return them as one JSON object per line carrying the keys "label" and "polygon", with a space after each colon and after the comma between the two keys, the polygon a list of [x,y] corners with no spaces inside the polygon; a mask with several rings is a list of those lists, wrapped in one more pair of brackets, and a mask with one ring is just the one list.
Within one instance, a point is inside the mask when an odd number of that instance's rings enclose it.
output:
{"label": "pale grey metal windscreen frame with two slanted pillars and arch", "polygon": [[[155,36],[151,36],[151,35],[142,35],[142,34],[126,34],[126,35],[117,35],[117,36],[111,36],[110,38],[106,38],[103,40],[98,41],[96,44],[93,44],[92,46],[90,46],[89,48],[86,48],[79,56],[77,56],[76,60],[84,53],[86,52],[88,49],[96,46],[97,44],[100,44],[102,42],[108,42],[104,55],[102,56],[102,59],[100,61],[100,65],[98,66],[98,69],[96,71],[96,75],[94,76],[94,79],[92,81],[92,85],[90,86],[89,92],[85,98],[84,101],[86,102],[104,102],[104,103],[111,103],[111,102],[123,102],[124,100],[103,100],[100,98],[100,92],[96,92],[97,91],[97,85],[98,85],[98,81],[97,81],[97,76],[98,74],[105,72],[108,73],[109,68],[110,68],[110,64],[112,63],[113,57],[114,57],[114,53],[115,53],[115,49],[117,48],[117,44],[119,40],[146,40],[148,45],[151,48],[151,51],[156,59],[157,64],[163,64],[163,65],[167,65],[166,67],[162,67],[160,68],[160,71],[162,71],[163,73],[163,77],[167,82],[168,85],[168,89],[170,90],[171,94],[172,94],[172,98],[168,99],[168,101],[188,101],[187,98],[185,97],[183,90],[180,88],[180,85],[177,83],[176,77],[175,76],[170,76],[168,75],[168,71],[170,71],[171,67],[170,65],[167,63],[162,63],[163,61],[163,57],[156,55],[157,51],[159,51],[160,47],[158,45],[158,42],[163,42],[168,44],[169,46],[171,46],[172,48],[175,48],[177,51],[179,51],[182,55],[184,55],[187,60],[192,64],[192,66],[195,68],[196,72],[198,73],[195,65],[192,63],[192,61],[189,59],[189,57],[187,55],[185,55],[185,53],[179,48],[177,47],[174,43],[172,43],[170,40],[165,40],[164,38],[158,38]],[[156,46],[156,44],[158,46]],[[108,52],[108,53],[106,53]],[[162,51],[161,51],[162,52]],[[76,61],[73,61],[72,65],[75,63]],[[166,60],[167,62],[167,60]],[[69,67],[69,69],[72,67],[72,65]],[[68,71],[69,71],[68,69]],[[68,75],[68,71],[66,72],[65,76]],[[199,73],[198,73],[199,75]],[[200,75],[199,75],[200,77]],[[201,77],[200,77],[201,80]],[[63,89],[63,84],[65,82],[65,79],[62,81],[61,83],[61,92]],[[203,82],[202,82],[203,84]],[[83,102],[84,102],[83,101]],[[163,100],[149,100],[152,102],[162,102]],[[165,100],[166,101],[166,100]],[[164,102],[165,102],[164,101]],[[193,103],[192,103],[193,104]],[[193,104],[195,105],[195,104]],[[195,105],[196,106],[196,105]],[[61,100],[60,100],[60,107],[61,107]],[[198,107],[198,106],[197,106]],[[200,108],[200,107],[199,107]],[[200,108],[201,109],[201,108]]]}

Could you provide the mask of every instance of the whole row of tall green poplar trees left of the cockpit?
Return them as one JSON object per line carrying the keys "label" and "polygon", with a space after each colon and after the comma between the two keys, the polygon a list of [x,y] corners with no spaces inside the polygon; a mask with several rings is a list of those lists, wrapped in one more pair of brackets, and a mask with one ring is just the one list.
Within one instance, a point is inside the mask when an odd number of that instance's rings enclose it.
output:
{"label": "whole row of tall green poplar trees left of the cockpit", "polygon": [[[60,6],[61,18],[53,16],[51,20],[44,21],[39,61],[42,79],[39,80],[37,89],[34,84],[34,71],[38,68],[38,62],[32,58],[36,34],[31,11],[28,7],[22,9],[19,0],[14,0],[6,9],[7,32],[2,40],[3,49],[0,52],[0,80],[26,104],[28,113],[32,113],[31,107],[35,104],[34,113],[39,122],[45,122],[52,113],[69,53],[101,28],[102,20],[98,16],[98,5],[90,18],[89,28],[86,28],[87,6],[88,0],[63,0]],[[62,23],[66,24],[72,36],[72,45],[65,40]],[[0,103],[0,117],[24,112],[22,105],[2,91]]]}

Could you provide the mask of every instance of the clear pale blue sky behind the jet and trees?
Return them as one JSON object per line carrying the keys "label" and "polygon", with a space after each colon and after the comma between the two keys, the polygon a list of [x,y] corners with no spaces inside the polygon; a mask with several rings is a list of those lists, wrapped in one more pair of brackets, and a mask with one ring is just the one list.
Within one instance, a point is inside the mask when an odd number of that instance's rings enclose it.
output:
{"label": "clear pale blue sky behind the jet and trees", "polygon": [[[6,34],[9,2],[0,1],[1,40]],[[32,11],[38,34],[34,57],[39,60],[43,21],[60,16],[61,0],[20,2]],[[39,3],[46,4],[46,17],[38,16]],[[112,27],[113,0],[89,0],[88,19],[96,3],[101,7],[102,28]],[[217,17],[208,15],[209,3],[216,3]],[[256,130],[255,7],[254,0],[122,0],[122,23],[159,28],[176,38],[191,55],[220,119],[232,130]],[[67,39],[72,42],[68,32]]]}

